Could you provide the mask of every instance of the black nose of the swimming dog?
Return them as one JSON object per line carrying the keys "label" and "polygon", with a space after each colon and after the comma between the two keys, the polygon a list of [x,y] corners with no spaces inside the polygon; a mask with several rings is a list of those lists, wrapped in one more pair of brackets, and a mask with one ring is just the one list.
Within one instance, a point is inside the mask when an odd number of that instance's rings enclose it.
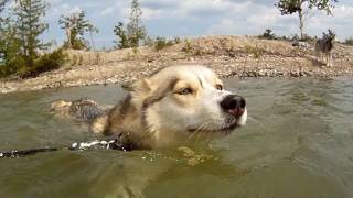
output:
{"label": "black nose of the swimming dog", "polygon": [[221,101],[221,108],[236,118],[243,116],[246,101],[238,95],[228,95]]}

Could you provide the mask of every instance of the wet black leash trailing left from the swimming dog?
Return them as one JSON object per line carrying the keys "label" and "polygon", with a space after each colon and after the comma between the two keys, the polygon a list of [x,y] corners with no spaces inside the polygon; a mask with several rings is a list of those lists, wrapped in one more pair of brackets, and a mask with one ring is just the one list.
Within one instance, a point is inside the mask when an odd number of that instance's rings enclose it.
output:
{"label": "wet black leash trailing left from the swimming dog", "polygon": [[0,158],[20,158],[29,155],[34,155],[38,153],[47,153],[55,151],[85,151],[88,148],[104,148],[104,150],[119,150],[127,152],[129,147],[124,146],[118,139],[110,141],[92,141],[92,142],[75,142],[71,146],[57,148],[57,147],[41,147],[41,148],[32,148],[32,150],[22,150],[22,151],[6,151],[0,152]]}

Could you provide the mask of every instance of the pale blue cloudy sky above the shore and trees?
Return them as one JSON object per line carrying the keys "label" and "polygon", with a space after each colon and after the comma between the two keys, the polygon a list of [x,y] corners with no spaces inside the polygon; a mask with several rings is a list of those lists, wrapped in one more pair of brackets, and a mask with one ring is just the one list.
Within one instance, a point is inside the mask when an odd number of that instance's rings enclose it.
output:
{"label": "pale blue cloudy sky above the shore and trees", "polygon": [[[50,9],[45,21],[50,29],[44,40],[65,40],[58,26],[62,14],[84,10],[88,20],[98,28],[95,45],[111,47],[116,40],[113,30],[127,22],[131,0],[46,0]],[[140,0],[142,21],[152,37],[197,37],[207,35],[259,35],[271,29],[277,35],[299,33],[297,15],[281,15],[274,6],[276,0]],[[339,40],[353,35],[353,0],[339,0],[333,16],[313,12],[306,20],[306,33],[320,36],[332,29]]]}

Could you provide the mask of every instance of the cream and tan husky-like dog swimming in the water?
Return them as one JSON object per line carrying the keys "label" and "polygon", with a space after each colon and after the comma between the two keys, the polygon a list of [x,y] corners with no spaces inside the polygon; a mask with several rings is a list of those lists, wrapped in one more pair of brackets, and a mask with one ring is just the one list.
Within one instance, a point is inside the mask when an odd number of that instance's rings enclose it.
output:
{"label": "cream and tan husky-like dog swimming in the water", "polygon": [[106,111],[89,99],[56,101],[52,109],[88,118],[93,132],[117,136],[131,150],[224,136],[246,123],[245,99],[204,66],[167,67],[124,87],[127,97]]}

